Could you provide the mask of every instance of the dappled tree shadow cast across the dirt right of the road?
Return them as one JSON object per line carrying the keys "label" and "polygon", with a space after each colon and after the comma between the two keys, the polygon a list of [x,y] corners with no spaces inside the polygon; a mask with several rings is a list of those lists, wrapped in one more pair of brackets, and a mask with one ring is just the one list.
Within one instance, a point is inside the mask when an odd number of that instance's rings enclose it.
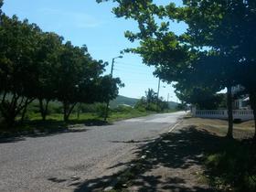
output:
{"label": "dappled tree shadow cast across the dirt right of the road", "polygon": [[[176,133],[168,133],[160,140],[144,144],[136,152],[137,160],[112,167],[126,165],[127,168],[114,176],[103,176],[80,184],[75,191],[98,191],[108,187],[112,181],[117,191],[125,186],[136,187],[135,191],[216,191],[201,185],[187,185],[187,180],[175,174],[162,176],[145,175],[155,168],[162,166],[166,169],[187,169],[193,165],[203,165],[205,153],[215,151],[219,144],[225,142],[224,137],[187,127]],[[112,168],[110,167],[110,168]],[[160,187],[160,188],[159,188]]]}

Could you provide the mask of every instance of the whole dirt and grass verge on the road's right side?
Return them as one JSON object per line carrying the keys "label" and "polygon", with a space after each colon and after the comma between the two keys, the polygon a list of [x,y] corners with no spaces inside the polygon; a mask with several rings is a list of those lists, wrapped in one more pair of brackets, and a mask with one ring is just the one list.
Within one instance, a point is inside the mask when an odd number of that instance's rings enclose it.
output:
{"label": "whole dirt and grass verge on the road's right side", "polygon": [[187,118],[178,129],[142,146],[110,191],[256,191],[252,122],[235,124],[234,140],[226,121]]}

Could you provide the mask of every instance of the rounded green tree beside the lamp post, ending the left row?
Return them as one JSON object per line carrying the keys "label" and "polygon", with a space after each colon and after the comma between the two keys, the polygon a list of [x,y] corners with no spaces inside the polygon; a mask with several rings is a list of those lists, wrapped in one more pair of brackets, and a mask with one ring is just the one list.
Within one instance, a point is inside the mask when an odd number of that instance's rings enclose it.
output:
{"label": "rounded green tree beside the lamp post, ending the left row", "polygon": [[64,121],[78,102],[94,103],[114,99],[119,87],[119,79],[102,76],[107,63],[91,58],[86,47],[73,47],[66,43],[59,57],[57,98],[63,103]]}

